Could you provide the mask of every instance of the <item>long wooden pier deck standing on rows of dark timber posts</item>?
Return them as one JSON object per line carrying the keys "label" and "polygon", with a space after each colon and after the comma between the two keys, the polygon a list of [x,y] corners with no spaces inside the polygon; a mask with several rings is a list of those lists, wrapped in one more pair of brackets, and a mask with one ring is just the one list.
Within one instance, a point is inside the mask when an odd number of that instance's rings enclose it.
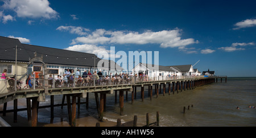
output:
{"label": "long wooden pier deck standing on rows of dark timber posts", "polygon": [[[134,98],[137,98],[138,91],[137,87],[141,87],[141,101],[144,100],[144,87],[148,87],[148,95],[150,95],[150,100],[153,100],[153,96],[158,98],[159,94],[163,95],[172,95],[179,93],[181,91],[193,90],[196,87],[204,86],[208,83],[217,82],[218,79],[225,78],[226,76],[181,76],[180,78],[171,78],[171,77],[152,77],[148,79],[133,79],[130,82],[123,80],[121,83],[100,83],[96,85],[95,82],[92,86],[77,86],[75,87],[34,87],[34,89],[16,89],[14,91],[9,91],[6,94],[0,94],[0,104],[3,104],[3,111],[0,111],[0,114],[3,116],[6,115],[6,112],[14,113],[14,122],[17,122],[17,112],[27,110],[28,122],[31,122],[32,127],[37,126],[37,117],[38,117],[38,108],[51,108],[51,118],[53,116],[53,107],[55,106],[67,106],[69,124],[72,127],[76,126],[76,112],[80,110],[80,98],[86,98],[86,108],[88,108],[88,94],[94,93],[96,106],[98,111],[98,119],[102,121],[104,116],[104,111],[106,107],[106,96],[107,94],[115,94],[115,103],[117,103],[117,95],[119,92],[119,107],[120,115],[123,115],[124,102],[124,93],[131,93],[131,104],[134,102]],[[216,80],[216,81],[215,81]],[[225,81],[226,82],[226,81]],[[155,88],[153,94],[153,87]],[[167,88],[168,87],[168,88]],[[167,91],[166,91],[167,88]],[[100,98],[98,97],[100,94]],[[39,103],[46,100],[46,96],[51,97],[51,104],[49,106],[40,107]],[[63,101],[61,104],[54,104],[54,95],[63,95]],[[27,108],[18,109],[18,99],[26,98],[27,99]],[[65,103],[65,99],[67,103]],[[13,110],[6,110],[7,102],[14,102]],[[32,103],[31,103],[32,101]]]}

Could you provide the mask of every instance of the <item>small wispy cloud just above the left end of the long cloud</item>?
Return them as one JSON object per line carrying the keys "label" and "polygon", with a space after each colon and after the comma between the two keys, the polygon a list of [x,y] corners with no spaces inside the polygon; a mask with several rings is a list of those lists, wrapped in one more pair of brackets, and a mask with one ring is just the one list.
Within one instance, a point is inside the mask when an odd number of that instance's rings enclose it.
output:
{"label": "small wispy cloud just above the left end of the long cloud", "polygon": [[71,34],[77,35],[86,35],[89,29],[83,27],[75,27],[75,26],[60,26],[56,30],[59,31],[69,31]]}

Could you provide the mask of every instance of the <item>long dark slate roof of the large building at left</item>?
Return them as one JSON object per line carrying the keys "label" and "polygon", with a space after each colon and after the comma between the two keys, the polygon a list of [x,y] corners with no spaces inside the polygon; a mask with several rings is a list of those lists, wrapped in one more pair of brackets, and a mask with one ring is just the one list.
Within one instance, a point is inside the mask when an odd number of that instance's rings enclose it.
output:
{"label": "long dark slate roof of the large building at left", "polygon": [[[34,57],[43,55],[43,62],[46,64],[94,66],[94,54],[68,51],[64,49],[41,47],[38,45],[22,44],[18,39],[0,36],[0,60],[15,61],[15,47],[18,47],[17,61],[28,62]],[[5,50],[6,49],[6,50]],[[47,56],[46,56],[47,55]],[[96,58],[96,67],[100,58]],[[112,61],[113,62],[113,61]],[[109,62],[110,64],[110,62]],[[114,63],[116,64],[116,63]],[[110,65],[109,65],[110,68]],[[117,68],[121,68],[117,64]]]}

